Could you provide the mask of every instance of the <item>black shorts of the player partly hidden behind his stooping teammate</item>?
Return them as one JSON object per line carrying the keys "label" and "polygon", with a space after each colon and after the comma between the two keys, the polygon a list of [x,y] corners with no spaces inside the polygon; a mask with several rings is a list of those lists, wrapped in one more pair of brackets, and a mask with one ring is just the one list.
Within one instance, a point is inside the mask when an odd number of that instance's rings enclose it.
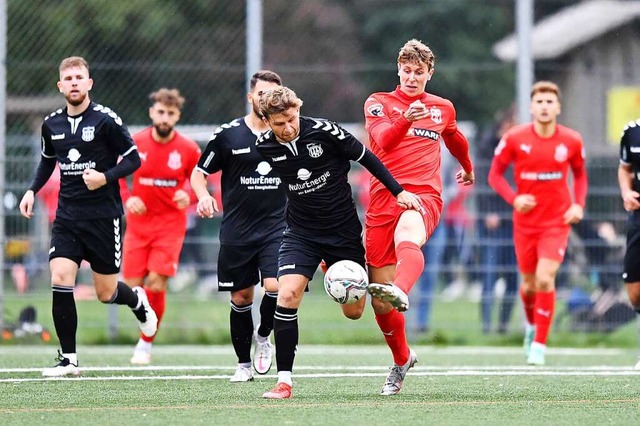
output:
{"label": "black shorts of the player partly hidden behind his stooping teammate", "polygon": [[218,291],[239,291],[276,278],[280,238],[251,245],[222,244],[218,253]]}

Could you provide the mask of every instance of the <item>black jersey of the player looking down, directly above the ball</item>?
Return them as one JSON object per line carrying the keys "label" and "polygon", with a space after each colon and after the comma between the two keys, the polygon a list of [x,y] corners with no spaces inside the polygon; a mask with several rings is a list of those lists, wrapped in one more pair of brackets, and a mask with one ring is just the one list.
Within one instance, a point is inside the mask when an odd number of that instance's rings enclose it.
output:
{"label": "black jersey of the player looking down, directly above the ball", "polygon": [[289,227],[322,235],[357,220],[347,175],[350,161],[361,159],[366,148],[345,129],[326,119],[301,116],[295,140],[282,144],[267,131],[257,146],[287,189]]}

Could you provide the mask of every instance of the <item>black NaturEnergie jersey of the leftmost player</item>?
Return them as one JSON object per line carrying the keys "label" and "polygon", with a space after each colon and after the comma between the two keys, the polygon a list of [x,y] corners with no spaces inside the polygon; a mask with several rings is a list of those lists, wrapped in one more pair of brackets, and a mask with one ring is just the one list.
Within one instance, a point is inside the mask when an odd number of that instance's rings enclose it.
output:
{"label": "black NaturEnergie jersey of the leftmost player", "polygon": [[80,115],[59,109],[42,124],[42,156],[56,158],[60,167],[60,195],[56,216],[99,219],[121,216],[118,181],[90,191],[82,179],[85,169],[104,173],[119,156],[135,155],[136,147],[122,119],[111,109],[91,102]]}

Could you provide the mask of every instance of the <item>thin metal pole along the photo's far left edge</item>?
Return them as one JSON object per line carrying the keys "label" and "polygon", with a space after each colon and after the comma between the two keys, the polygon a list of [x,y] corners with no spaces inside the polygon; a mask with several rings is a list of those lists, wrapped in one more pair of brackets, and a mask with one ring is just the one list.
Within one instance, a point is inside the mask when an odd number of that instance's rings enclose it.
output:
{"label": "thin metal pole along the photo's far left edge", "polygon": [[[7,140],[7,0],[0,0],[0,200],[4,200],[5,158]],[[0,205],[0,329],[4,327],[4,274],[6,271],[4,248],[4,202]]]}

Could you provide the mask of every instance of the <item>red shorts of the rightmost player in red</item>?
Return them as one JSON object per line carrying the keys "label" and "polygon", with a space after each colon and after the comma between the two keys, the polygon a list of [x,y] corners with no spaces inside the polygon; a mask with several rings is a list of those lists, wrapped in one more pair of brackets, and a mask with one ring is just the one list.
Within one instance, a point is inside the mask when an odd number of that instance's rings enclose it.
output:
{"label": "red shorts of the rightmost player in red", "polygon": [[513,244],[520,272],[533,274],[540,259],[551,259],[562,263],[569,242],[571,227],[547,229],[513,229]]}

